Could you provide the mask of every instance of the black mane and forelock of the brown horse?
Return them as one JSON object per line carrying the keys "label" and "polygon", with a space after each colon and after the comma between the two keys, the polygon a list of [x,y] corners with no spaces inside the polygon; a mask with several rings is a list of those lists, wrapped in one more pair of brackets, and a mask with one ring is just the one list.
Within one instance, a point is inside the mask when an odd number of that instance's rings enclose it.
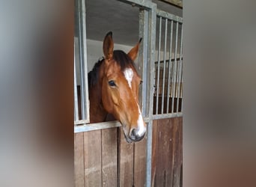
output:
{"label": "black mane and forelock of the brown horse", "polygon": [[[132,67],[135,67],[134,62],[125,52],[121,50],[115,50],[113,53],[113,58],[121,66],[122,71],[124,71],[125,68],[130,67],[131,65]],[[103,63],[103,61],[104,59],[99,60],[96,64],[94,64],[94,68],[88,73],[89,88],[96,85],[98,81],[98,72],[100,70],[100,65]]]}

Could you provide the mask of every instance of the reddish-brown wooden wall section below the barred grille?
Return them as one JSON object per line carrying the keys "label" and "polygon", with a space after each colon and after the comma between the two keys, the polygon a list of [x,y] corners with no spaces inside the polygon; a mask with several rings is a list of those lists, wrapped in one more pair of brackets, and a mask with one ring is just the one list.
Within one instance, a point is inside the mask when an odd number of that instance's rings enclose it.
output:
{"label": "reddish-brown wooden wall section below the barred grille", "polygon": [[180,186],[182,117],[153,121],[152,186]]}

